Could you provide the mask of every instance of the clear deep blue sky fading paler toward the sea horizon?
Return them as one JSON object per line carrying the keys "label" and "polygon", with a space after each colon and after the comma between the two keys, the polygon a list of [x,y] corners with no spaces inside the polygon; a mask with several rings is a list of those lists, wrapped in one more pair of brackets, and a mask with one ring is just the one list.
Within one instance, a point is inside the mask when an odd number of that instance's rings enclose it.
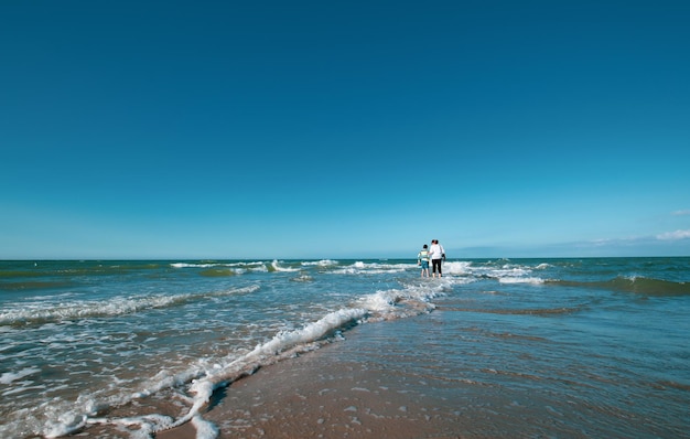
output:
{"label": "clear deep blue sky fading paler toward the sea horizon", "polygon": [[690,256],[689,22],[3,1],[0,258]]}

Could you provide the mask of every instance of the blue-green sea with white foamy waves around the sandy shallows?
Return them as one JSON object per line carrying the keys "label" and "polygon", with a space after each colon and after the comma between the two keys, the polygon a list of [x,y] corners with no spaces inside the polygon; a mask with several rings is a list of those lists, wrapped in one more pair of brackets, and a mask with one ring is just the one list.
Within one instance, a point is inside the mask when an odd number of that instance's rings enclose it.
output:
{"label": "blue-green sea with white foamy waves around the sandy shallows", "polygon": [[0,438],[216,438],[231,383],[365,326],[456,437],[690,437],[690,258],[412,257],[0,261]]}

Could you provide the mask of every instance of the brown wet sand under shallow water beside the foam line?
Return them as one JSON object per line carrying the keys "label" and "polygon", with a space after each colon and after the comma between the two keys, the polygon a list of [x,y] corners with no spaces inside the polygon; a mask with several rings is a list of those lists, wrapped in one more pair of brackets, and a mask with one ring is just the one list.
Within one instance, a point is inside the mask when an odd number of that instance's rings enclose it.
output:
{"label": "brown wet sand under shallow water beside the foam line", "polygon": [[[396,325],[382,322],[377,325]],[[466,419],[443,393],[363,351],[385,350],[363,325],[347,340],[257,371],[218,390],[203,414],[219,438],[460,438]],[[380,326],[379,326],[380,328]],[[388,328],[387,331],[392,331]],[[379,343],[373,343],[378,341]],[[193,439],[184,425],[159,439]]]}

